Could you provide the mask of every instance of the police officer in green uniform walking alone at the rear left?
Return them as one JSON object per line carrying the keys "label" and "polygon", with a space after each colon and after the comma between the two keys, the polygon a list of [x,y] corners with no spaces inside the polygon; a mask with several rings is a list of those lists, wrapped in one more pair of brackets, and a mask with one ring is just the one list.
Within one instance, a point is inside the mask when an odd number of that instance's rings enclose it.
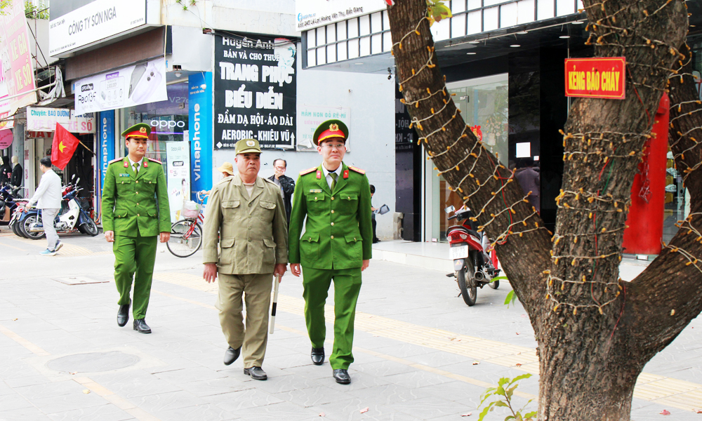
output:
{"label": "police officer in green uniform walking alone at the rear left", "polygon": [[[166,175],[161,162],[144,158],[151,126],[135,124],[122,132],[128,155],[107,166],[102,187],[102,228],[113,243],[114,283],[119,292],[117,324],[129,320],[129,292],[134,282],[134,330],[151,333],[146,309],[156,262],[157,237],[171,237]],[[159,234],[160,233],[160,234]]]}

